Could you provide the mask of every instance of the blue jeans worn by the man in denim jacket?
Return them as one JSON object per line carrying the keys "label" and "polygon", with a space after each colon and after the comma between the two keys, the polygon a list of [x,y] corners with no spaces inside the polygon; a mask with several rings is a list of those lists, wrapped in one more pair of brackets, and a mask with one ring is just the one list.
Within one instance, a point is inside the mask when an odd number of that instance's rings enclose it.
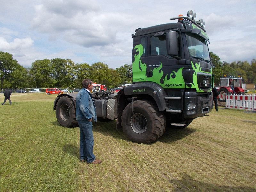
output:
{"label": "blue jeans worn by the man in denim jacket", "polygon": [[86,160],[91,163],[95,159],[93,154],[93,133],[92,133],[92,121],[78,120],[80,128],[80,160]]}

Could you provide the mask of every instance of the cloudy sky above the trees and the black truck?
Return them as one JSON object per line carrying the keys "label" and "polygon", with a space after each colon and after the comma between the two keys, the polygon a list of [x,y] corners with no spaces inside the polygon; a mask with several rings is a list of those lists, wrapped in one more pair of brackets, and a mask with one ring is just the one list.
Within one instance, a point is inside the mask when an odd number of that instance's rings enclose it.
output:
{"label": "cloudy sky above the trees and the black truck", "polygon": [[255,0],[0,0],[0,51],[24,67],[41,59],[132,63],[132,37],[141,27],[176,22],[192,9],[205,21],[209,49],[222,61],[256,59]]}

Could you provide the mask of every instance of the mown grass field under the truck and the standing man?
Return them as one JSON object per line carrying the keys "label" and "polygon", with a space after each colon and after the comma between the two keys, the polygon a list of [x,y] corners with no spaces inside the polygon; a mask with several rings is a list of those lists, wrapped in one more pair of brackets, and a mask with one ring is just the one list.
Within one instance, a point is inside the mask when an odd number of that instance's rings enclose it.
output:
{"label": "mown grass field under the truck and the standing man", "polygon": [[220,107],[150,145],[97,122],[93,165],[79,162],[79,129],[58,124],[55,97],[0,106],[0,191],[256,191],[256,113]]}

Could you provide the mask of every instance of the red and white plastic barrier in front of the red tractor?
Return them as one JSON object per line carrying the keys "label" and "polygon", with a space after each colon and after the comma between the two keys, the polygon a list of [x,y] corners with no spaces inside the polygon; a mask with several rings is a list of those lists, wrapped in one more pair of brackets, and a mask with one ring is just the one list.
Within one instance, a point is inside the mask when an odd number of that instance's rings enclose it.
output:
{"label": "red and white plastic barrier in front of the red tractor", "polygon": [[256,112],[256,95],[226,95],[226,108],[247,109]]}

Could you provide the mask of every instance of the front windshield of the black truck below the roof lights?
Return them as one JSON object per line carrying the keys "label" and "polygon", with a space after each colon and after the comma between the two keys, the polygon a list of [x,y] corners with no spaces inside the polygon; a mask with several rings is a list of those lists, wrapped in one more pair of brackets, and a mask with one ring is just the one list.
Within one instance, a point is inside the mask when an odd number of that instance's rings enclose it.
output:
{"label": "front windshield of the black truck below the roof lights", "polygon": [[206,40],[203,37],[192,33],[186,33],[186,38],[191,57],[196,57],[209,62],[210,56]]}

